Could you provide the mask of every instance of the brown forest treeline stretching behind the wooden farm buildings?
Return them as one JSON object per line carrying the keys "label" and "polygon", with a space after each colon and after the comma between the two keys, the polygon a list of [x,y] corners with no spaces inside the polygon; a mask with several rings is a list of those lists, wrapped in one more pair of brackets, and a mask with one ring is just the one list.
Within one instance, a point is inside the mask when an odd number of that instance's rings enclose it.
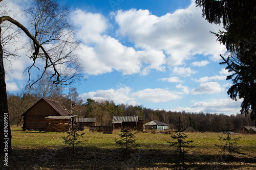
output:
{"label": "brown forest treeline stretching behind the wooden farm buildings", "polygon": [[159,120],[171,127],[176,127],[176,119],[180,116],[184,126],[189,126],[189,131],[199,132],[222,132],[225,124],[229,123],[237,132],[241,132],[244,126],[253,126],[250,116],[241,114],[225,115],[217,113],[194,113],[176,112],[164,109],[150,109],[142,105],[133,106],[128,104],[115,104],[113,101],[87,99],[83,102],[76,91],[76,88],[69,88],[69,93],[63,94],[61,88],[53,90],[47,95],[33,89],[34,93],[8,93],[8,106],[10,125],[22,126],[23,116],[26,110],[33,106],[40,98],[48,98],[59,101],[78,117],[96,117],[97,126],[110,126],[113,116],[139,116],[144,123],[152,120]]}

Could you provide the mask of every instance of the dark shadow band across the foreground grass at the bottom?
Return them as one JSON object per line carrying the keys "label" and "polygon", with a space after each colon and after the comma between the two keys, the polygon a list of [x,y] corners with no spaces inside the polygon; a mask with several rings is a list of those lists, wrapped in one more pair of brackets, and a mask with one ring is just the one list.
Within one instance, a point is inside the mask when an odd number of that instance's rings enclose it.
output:
{"label": "dark shadow band across the foreground grass at the bottom", "polygon": [[[192,156],[192,155],[190,155]],[[234,160],[221,163],[216,160],[220,155],[200,155],[196,167],[201,169],[239,169],[255,159]],[[162,150],[138,149],[125,159],[120,149],[103,149],[96,147],[76,147],[73,158],[71,148],[13,148],[8,158],[8,167],[3,169],[172,169],[174,168],[172,152]],[[212,163],[211,163],[212,162]],[[2,164],[1,164],[2,165]],[[1,167],[1,166],[0,166]],[[248,168],[247,168],[248,169]],[[252,168],[253,169],[253,168]]]}

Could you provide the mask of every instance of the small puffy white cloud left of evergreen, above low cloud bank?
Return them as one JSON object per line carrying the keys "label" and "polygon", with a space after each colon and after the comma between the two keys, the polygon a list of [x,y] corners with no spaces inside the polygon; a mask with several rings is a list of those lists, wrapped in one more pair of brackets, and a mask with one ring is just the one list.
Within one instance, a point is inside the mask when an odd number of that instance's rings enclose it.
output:
{"label": "small puffy white cloud left of evergreen, above low cloud bank", "polygon": [[221,92],[222,88],[218,82],[200,83],[199,87],[192,90],[192,94],[211,94]]}

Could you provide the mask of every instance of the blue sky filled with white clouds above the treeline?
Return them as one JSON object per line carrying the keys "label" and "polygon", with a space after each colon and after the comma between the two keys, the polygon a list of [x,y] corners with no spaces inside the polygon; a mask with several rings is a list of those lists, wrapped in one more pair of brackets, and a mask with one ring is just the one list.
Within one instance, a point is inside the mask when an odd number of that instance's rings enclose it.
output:
{"label": "blue sky filled with white clouds above the treeline", "polygon": [[[29,3],[11,2],[15,10]],[[209,33],[222,27],[202,18],[194,1],[59,2],[70,6],[78,28],[76,53],[87,80],[74,86],[84,102],[91,98],[151,109],[239,113],[241,101],[228,98],[231,83],[219,64],[225,47]],[[8,67],[10,92],[26,85],[21,76],[26,61],[20,57]]]}

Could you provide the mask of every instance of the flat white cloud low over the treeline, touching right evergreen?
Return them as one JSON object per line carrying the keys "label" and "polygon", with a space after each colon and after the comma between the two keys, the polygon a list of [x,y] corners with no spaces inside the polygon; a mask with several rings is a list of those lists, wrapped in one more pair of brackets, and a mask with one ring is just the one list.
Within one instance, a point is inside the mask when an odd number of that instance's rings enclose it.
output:
{"label": "flat white cloud low over the treeline, touching right evergreen", "polygon": [[231,99],[208,99],[206,101],[194,101],[191,107],[177,107],[175,111],[188,111],[188,112],[210,112],[210,113],[226,113],[236,114],[239,113],[241,108],[241,101],[233,101]]}

